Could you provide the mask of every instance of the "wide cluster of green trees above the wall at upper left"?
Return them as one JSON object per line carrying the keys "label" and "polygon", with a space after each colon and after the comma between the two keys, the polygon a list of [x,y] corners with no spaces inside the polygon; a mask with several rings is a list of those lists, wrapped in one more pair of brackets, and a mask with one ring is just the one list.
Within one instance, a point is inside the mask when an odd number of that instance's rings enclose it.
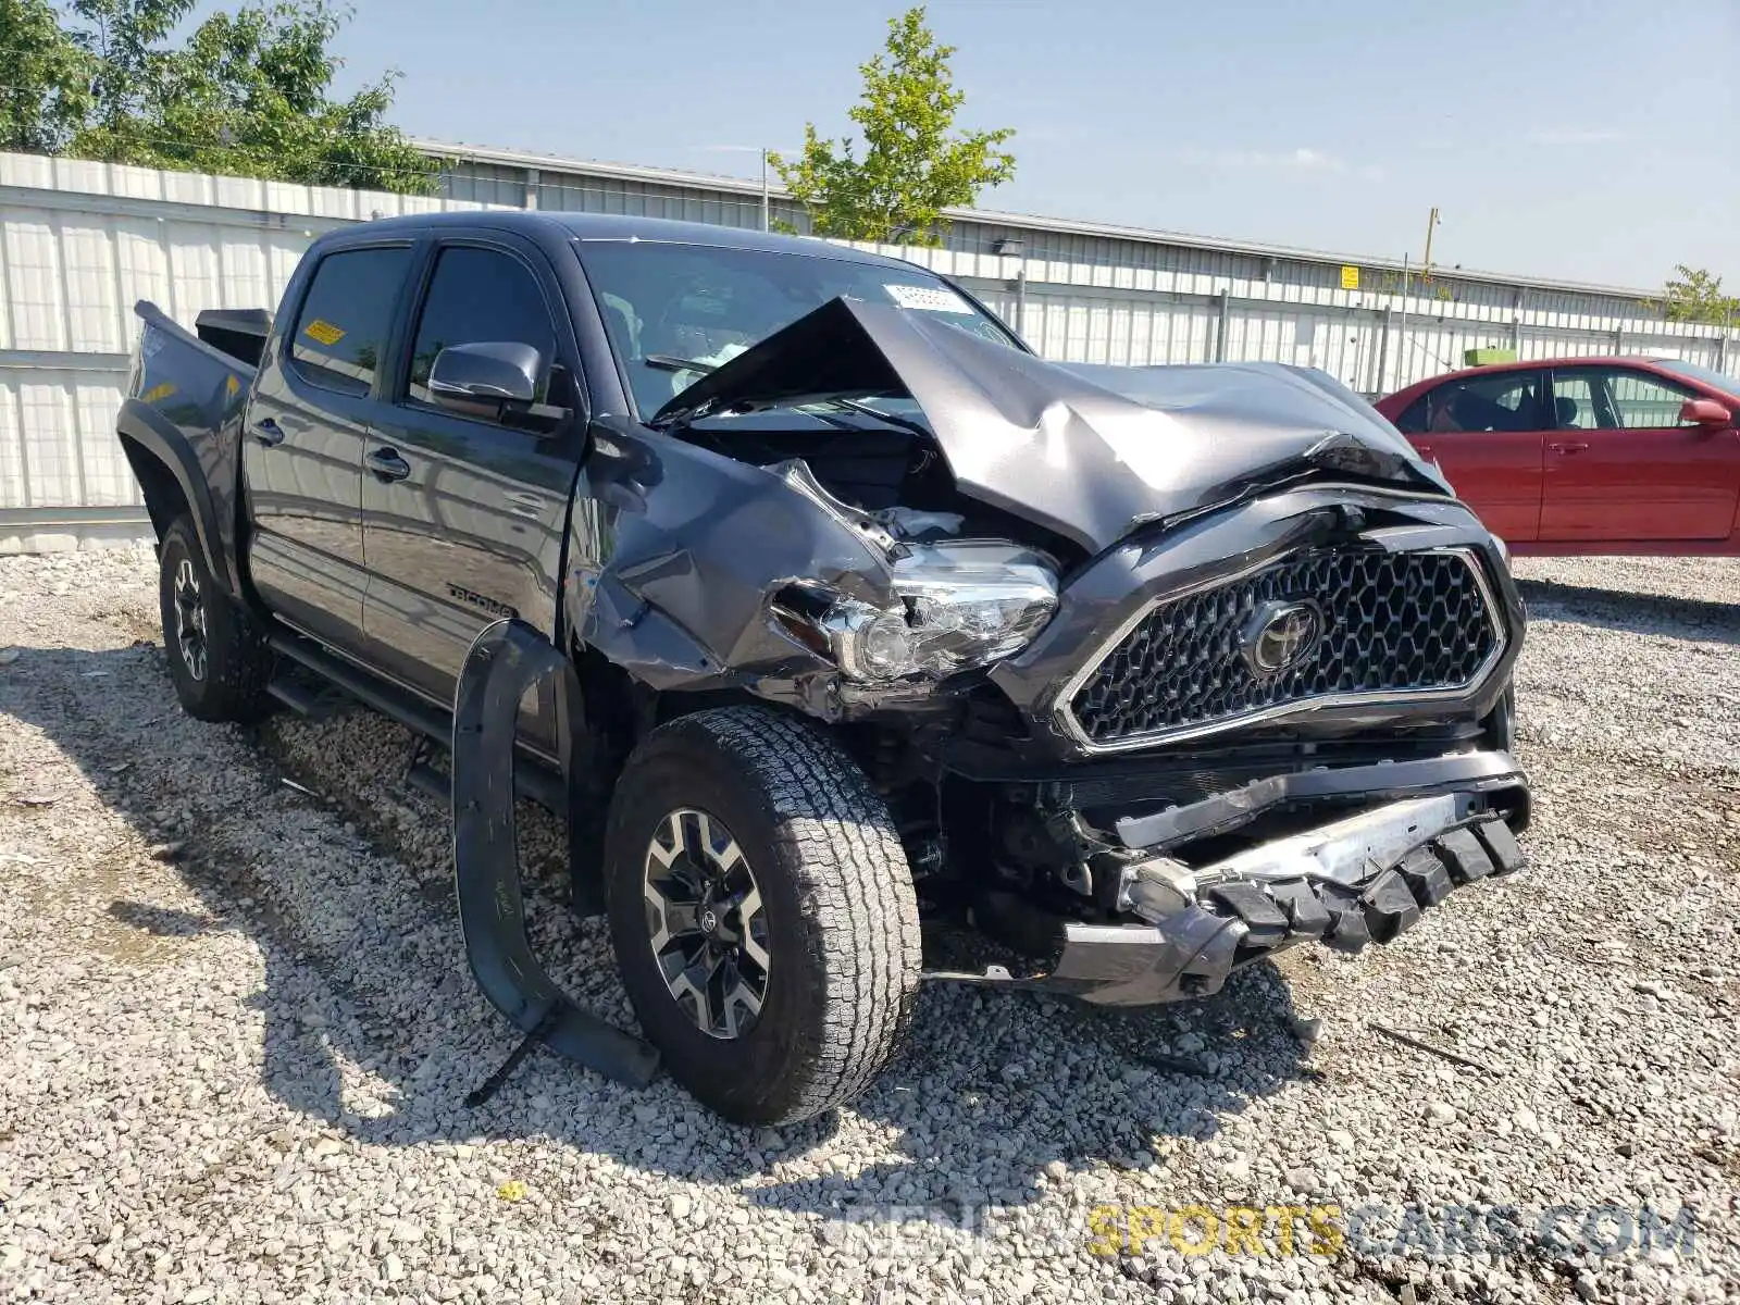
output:
{"label": "wide cluster of green trees above the wall at upper left", "polygon": [[[52,17],[44,0],[0,0],[0,12],[7,5]],[[397,73],[350,99],[329,97],[341,64],[332,38],[346,10],[329,0],[252,0],[171,44],[195,9],[197,0],[70,0],[64,26],[56,26],[59,45],[38,16],[30,49],[59,50],[54,68],[70,66],[73,77],[38,75],[59,89],[33,92],[24,104],[31,117],[9,139],[143,167],[435,190],[437,164],[386,124]],[[10,45],[0,33],[7,61]]]}

